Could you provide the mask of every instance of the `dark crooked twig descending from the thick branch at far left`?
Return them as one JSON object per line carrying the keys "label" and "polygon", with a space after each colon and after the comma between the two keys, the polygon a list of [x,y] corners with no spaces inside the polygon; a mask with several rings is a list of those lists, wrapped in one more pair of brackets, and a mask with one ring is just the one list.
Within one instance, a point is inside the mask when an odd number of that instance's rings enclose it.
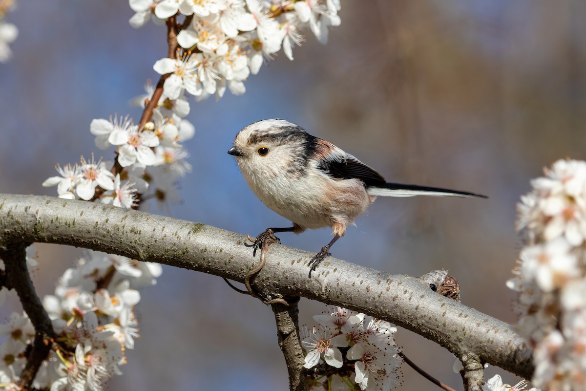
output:
{"label": "dark crooked twig descending from the thick branch at far left", "polygon": [[19,386],[25,390],[30,389],[41,364],[49,356],[55,338],[49,315],[36,294],[35,286],[30,280],[29,270],[26,267],[25,250],[29,244],[18,242],[8,246],[0,246],[0,258],[4,260],[8,283],[18,294],[22,308],[35,327],[35,341],[28,355],[25,369],[22,370],[21,380],[18,382]]}

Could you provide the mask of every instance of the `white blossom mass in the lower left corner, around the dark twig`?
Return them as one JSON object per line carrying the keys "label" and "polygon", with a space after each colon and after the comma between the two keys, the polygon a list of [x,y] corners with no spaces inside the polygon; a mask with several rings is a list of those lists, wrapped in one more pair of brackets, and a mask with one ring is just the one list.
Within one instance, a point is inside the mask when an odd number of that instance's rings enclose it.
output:
{"label": "white blossom mass in the lower left corner, around the dark twig", "polygon": [[[32,387],[97,391],[112,375],[120,375],[125,349],[134,348],[138,337],[134,306],[139,290],[154,285],[160,275],[159,264],[97,252],[67,269],[54,295],[42,300],[57,338]],[[35,329],[26,314],[13,312],[8,324],[0,325],[0,336],[5,337],[0,345],[0,384],[17,390]]]}

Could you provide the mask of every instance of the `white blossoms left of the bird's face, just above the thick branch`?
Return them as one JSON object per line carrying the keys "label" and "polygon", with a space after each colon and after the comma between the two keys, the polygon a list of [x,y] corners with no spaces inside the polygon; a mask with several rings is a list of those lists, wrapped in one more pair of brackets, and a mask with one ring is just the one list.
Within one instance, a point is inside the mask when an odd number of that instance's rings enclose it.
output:
{"label": "white blossoms left of the bird's face, just above the thick branch", "polygon": [[[147,93],[152,93],[147,86]],[[135,101],[142,100],[141,96]],[[103,161],[81,158],[81,164],[57,165],[59,176],[52,176],[43,186],[57,186],[60,198],[93,200],[96,189],[104,190],[98,199],[102,203],[133,208],[141,200],[156,198],[159,201],[176,200],[179,178],[191,171],[186,161],[188,152],[180,142],[189,140],[195,133],[193,125],[181,115],[187,115],[182,100],[162,96],[152,120],[139,130],[127,117],[103,118],[91,121],[91,134],[101,149],[117,147],[117,162],[121,172],[114,176]],[[149,194],[147,194],[149,192]]]}

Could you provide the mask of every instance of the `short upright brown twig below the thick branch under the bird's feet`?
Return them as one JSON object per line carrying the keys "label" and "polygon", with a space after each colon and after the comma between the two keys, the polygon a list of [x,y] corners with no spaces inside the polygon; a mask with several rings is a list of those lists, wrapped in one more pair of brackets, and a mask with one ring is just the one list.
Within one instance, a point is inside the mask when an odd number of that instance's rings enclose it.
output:
{"label": "short upright brown twig below the thick branch under the bird's feet", "polygon": [[281,303],[272,304],[271,308],[277,323],[279,347],[285,356],[285,363],[289,373],[289,390],[305,391],[308,390],[309,386],[303,371],[305,359],[301,348],[301,338],[299,338],[299,308],[297,301],[289,301],[287,305]]}

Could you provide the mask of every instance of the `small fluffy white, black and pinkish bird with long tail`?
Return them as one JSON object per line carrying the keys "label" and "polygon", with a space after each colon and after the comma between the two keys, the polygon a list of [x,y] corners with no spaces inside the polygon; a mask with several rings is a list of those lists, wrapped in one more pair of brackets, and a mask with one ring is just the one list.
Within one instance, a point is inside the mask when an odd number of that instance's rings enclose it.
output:
{"label": "small fluffy white, black and pinkish bird with long tail", "polygon": [[248,125],[236,135],[228,151],[254,194],[292,227],[268,228],[257,236],[254,252],[274,232],[301,233],[331,227],[333,239],[309,261],[311,272],[329,255],[377,196],[486,196],[418,185],[389,183],[378,172],[331,142],[317,138],[284,120]]}

